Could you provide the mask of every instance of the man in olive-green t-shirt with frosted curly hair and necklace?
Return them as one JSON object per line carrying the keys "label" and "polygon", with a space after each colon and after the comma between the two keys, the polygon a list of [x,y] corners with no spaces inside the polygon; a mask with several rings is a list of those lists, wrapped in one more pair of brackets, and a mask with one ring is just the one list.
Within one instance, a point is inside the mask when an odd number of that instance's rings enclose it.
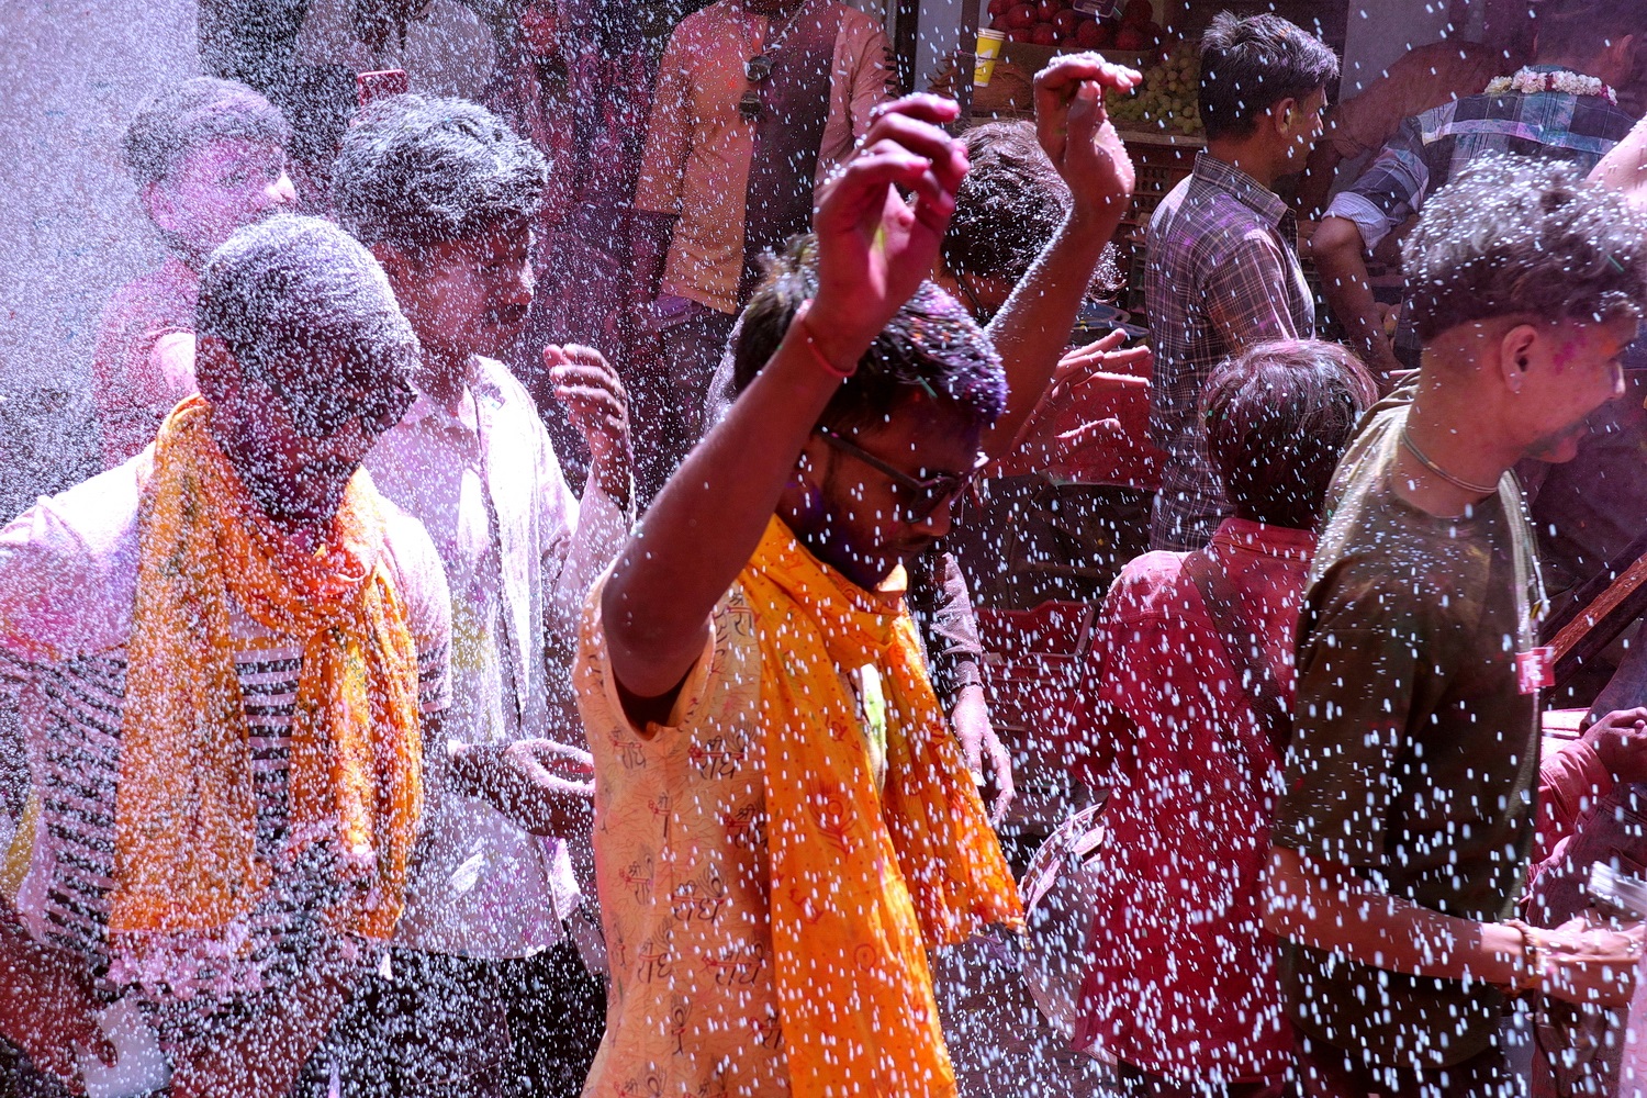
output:
{"label": "man in olive-green t-shirt with frosted curly hair and necklace", "polygon": [[1507,1095],[1507,991],[1622,1004],[1640,937],[1509,920],[1533,841],[1543,584],[1523,458],[1622,392],[1647,222],[1571,166],[1489,156],[1405,245],[1411,402],[1339,464],[1298,630],[1267,927],[1304,1095]]}

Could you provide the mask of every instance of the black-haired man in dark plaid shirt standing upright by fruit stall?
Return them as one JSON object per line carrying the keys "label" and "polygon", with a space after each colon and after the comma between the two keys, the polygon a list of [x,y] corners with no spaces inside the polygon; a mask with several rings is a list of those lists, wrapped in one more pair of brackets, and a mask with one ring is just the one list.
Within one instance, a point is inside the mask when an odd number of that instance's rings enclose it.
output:
{"label": "black-haired man in dark plaid shirt standing upright by fruit stall", "polygon": [[1321,135],[1337,58],[1275,15],[1222,13],[1201,40],[1207,150],[1150,221],[1150,433],[1166,454],[1150,547],[1204,547],[1232,514],[1206,454],[1201,388],[1243,347],[1314,334],[1296,224],[1270,189]]}

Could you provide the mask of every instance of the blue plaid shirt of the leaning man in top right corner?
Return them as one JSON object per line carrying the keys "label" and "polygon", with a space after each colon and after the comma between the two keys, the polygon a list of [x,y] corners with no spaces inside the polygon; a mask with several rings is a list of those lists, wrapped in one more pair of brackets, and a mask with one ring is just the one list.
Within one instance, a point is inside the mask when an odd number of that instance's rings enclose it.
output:
{"label": "blue plaid shirt of the leaning man in top right corner", "polygon": [[[1532,66],[1556,72],[1556,66]],[[1603,95],[1505,92],[1471,95],[1407,119],[1372,165],[1341,191],[1329,217],[1354,221],[1367,250],[1416,216],[1425,198],[1486,153],[1515,153],[1589,171],[1635,120]],[[1397,354],[1416,365],[1418,337],[1402,323]]]}

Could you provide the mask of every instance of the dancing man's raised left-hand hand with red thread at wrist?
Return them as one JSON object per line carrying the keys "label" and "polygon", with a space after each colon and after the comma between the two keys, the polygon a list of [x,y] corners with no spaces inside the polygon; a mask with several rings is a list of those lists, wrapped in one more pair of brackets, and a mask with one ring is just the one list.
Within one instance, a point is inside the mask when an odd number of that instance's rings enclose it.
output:
{"label": "dancing man's raised left-hand hand with red thread at wrist", "polygon": [[856,362],[932,273],[967,174],[967,147],[939,128],[957,114],[935,95],[876,107],[858,150],[824,188],[812,214],[819,291],[807,328],[837,365]]}

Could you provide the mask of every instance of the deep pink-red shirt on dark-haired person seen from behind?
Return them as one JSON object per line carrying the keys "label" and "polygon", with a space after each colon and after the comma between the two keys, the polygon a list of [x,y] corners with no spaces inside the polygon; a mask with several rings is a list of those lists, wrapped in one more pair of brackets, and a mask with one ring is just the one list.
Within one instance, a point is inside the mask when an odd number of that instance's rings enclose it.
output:
{"label": "deep pink-red shirt on dark-haired person seen from behind", "polygon": [[[1245,614],[1293,701],[1293,639],[1314,535],[1225,519]],[[1122,570],[1094,640],[1108,724],[1110,828],[1094,909],[1097,966],[1077,1045],[1158,1075],[1280,1075],[1291,1054],[1260,924],[1281,759],[1270,746],[1183,553]]]}

